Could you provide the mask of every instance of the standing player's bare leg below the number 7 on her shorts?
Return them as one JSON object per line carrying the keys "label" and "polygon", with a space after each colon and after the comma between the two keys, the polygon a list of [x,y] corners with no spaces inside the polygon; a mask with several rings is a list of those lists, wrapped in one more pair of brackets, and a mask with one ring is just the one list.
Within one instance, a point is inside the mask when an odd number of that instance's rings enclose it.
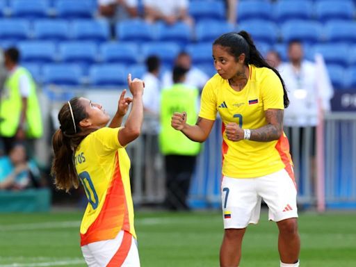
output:
{"label": "standing player's bare leg below the number 7 on her shorts", "polygon": [[241,245],[246,228],[225,229],[223,244],[220,248],[220,266],[237,267],[241,259]]}

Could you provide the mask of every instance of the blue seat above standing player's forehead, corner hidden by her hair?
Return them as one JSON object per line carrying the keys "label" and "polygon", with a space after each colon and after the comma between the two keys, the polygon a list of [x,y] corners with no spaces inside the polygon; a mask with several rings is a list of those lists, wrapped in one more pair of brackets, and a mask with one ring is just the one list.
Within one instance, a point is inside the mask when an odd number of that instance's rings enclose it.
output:
{"label": "blue seat above standing player's forehead, corner hidden by her hair", "polygon": [[228,22],[202,21],[195,27],[197,42],[213,42],[223,33],[234,31],[234,26]]}

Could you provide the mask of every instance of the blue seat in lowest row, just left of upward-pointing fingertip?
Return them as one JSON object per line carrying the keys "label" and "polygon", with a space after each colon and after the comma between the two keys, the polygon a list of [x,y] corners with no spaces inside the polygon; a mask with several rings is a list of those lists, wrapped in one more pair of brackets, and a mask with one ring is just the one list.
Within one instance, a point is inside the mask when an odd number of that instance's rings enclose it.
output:
{"label": "blue seat in lowest row, just left of upward-pointing fingertip", "polygon": [[92,86],[127,85],[127,67],[121,64],[92,65],[89,73]]}

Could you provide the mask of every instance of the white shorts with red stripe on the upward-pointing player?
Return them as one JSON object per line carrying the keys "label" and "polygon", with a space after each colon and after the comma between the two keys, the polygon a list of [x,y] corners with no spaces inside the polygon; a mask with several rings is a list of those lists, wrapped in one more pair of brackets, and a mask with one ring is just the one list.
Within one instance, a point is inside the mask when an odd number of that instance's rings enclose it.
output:
{"label": "white shorts with red stripe on the upward-pointing player", "polygon": [[120,231],[114,239],[83,245],[81,252],[89,267],[140,266],[136,239],[124,231]]}

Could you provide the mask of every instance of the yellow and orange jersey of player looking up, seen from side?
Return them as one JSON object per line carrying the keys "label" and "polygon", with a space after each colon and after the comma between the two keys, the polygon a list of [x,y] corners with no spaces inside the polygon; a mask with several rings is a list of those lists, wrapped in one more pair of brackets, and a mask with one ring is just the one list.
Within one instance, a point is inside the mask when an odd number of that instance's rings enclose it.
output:
{"label": "yellow and orange jersey of player looking up, seen from side", "polygon": [[81,245],[115,238],[120,230],[136,237],[130,160],[118,141],[120,129],[94,131],[76,149],[76,172],[88,197],[81,222]]}

